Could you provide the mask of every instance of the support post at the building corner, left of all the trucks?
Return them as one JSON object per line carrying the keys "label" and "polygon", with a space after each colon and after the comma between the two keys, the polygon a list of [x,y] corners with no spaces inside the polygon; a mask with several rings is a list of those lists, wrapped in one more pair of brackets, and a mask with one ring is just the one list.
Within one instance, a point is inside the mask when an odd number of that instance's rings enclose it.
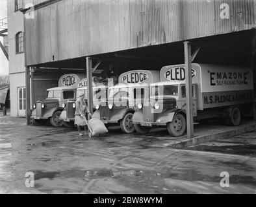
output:
{"label": "support post at the building corner, left of all the trucks", "polygon": [[27,124],[31,124],[31,68],[26,67],[26,118]]}

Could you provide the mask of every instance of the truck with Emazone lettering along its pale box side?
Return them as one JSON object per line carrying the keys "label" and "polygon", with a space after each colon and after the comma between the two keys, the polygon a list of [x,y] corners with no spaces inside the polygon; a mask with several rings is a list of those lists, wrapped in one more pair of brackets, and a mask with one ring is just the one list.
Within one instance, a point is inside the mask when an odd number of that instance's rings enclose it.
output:
{"label": "truck with Emazone lettering along its pale box side", "polygon": [[[150,98],[133,115],[137,133],[152,126],[166,126],[170,135],[186,131],[185,65],[169,65],[160,71],[161,82],[150,86]],[[194,121],[222,118],[239,125],[253,110],[253,71],[249,67],[192,64]]]}

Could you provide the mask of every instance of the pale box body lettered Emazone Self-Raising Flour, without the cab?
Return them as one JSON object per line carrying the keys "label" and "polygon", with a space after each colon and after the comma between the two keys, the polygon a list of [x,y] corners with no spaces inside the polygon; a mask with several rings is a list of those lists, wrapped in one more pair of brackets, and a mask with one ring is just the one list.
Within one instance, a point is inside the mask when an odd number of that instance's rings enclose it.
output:
{"label": "pale box body lettered Emazone Self-Raising Flour, without the cab", "polygon": [[[160,71],[161,82],[184,82],[185,65],[168,65]],[[198,110],[253,102],[253,70],[250,67],[192,63]]]}

